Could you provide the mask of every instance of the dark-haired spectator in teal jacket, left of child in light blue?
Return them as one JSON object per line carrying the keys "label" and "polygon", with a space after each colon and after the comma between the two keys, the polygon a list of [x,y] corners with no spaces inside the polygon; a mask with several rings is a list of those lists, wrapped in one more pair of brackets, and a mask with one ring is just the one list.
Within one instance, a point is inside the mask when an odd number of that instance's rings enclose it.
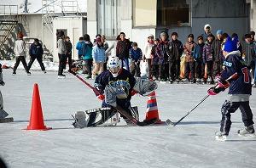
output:
{"label": "dark-haired spectator in teal jacket, left of child in light blue", "polygon": [[84,63],[85,63],[85,68],[88,72],[88,76],[86,76],[86,79],[90,79],[91,78],[91,67],[92,67],[92,43],[90,42],[90,36],[88,34],[84,35],[84,55],[83,55],[83,59],[84,59]]}

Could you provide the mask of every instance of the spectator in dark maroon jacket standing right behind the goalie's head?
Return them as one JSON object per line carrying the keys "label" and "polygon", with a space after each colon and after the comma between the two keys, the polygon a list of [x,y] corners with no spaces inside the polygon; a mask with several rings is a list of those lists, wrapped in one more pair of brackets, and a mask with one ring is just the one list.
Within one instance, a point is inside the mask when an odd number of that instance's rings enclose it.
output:
{"label": "spectator in dark maroon jacket standing right behind the goalie's head", "polygon": [[125,69],[129,70],[129,50],[131,48],[131,42],[125,38],[125,33],[120,32],[120,40],[116,45],[116,56],[122,60],[122,65],[125,65]]}

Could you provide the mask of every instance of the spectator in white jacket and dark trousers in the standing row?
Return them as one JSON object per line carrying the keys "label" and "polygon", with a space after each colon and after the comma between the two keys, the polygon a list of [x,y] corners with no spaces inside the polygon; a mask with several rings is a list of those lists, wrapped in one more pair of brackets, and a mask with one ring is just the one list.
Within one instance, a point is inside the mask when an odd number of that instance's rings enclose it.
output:
{"label": "spectator in white jacket and dark trousers in the standing row", "polygon": [[154,46],[154,36],[153,35],[148,35],[148,41],[145,45],[144,48],[144,57],[143,60],[146,60],[148,63],[148,72],[149,72],[149,79],[152,79],[152,48]]}

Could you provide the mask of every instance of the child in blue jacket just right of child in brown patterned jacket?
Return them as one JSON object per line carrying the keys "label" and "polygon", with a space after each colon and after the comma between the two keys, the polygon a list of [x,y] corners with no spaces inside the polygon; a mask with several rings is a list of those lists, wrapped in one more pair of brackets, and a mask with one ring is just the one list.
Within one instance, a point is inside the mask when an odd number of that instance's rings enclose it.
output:
{"label": "child in blue jacket just right of child in brown patterned jacket", "polygon": [[204,48],[204,40],[203,36],[197,37],[197,44],[193,50],[193,58],[195,60],[195,76],[196,76],[196,83],[204,82],[204,72],[205,66],[203,64],[202,53]]}

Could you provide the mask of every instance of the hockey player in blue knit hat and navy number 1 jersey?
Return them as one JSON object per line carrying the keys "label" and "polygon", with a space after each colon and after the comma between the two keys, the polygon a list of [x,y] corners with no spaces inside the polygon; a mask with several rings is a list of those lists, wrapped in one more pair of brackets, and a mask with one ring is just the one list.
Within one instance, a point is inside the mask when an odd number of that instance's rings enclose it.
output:
{"label": "hockey player in blue knit hat and navy number 1 jersey", "polygon": [[225,100],[221,108],[222,119],[220,123],[220,132],[216,133],[216,139],[224,141],[229,135],[231,113],[236,112],[236,109],[241,110],[241,118],[245,128],[238,131],[241,136],[254,135],[253,128],[253,113],[249,105],[249,97],[252,94],[251,76],[247,65],[241,59],[241,53],[236,47],[236,43],[231,41],[230,37],[224,44],[224,70],[218,80],[216,87],[211,87],[208,90],[209,95],[216,95],[218,92],[230,88],[229,96]]}

